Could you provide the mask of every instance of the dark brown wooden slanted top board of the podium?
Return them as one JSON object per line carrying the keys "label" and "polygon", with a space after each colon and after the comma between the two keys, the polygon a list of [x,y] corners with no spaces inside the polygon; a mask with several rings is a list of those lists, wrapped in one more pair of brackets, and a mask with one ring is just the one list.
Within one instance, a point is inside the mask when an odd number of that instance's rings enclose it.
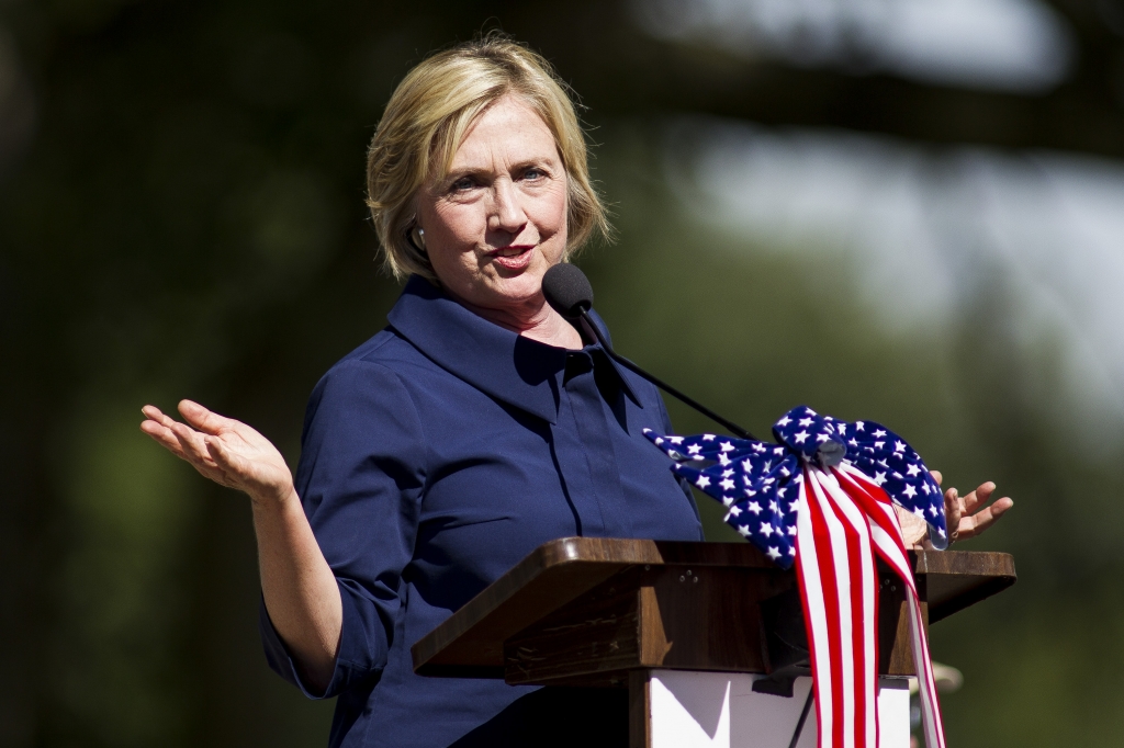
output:
{"label": "dark brown wooden slanted top board of the podium", "polygon": [[[528,626],[631,567],[718,566],[790,575],[747,542],[686,542],[614,538],[561,538],[543,544],[470,600],[411,648],[414,669],[437,675],[496,675],[504,642]],[[915,575],[940,620],[1010,586],[1007,554],[921,551]],[[735,591],[731,591],[734,593]]]}

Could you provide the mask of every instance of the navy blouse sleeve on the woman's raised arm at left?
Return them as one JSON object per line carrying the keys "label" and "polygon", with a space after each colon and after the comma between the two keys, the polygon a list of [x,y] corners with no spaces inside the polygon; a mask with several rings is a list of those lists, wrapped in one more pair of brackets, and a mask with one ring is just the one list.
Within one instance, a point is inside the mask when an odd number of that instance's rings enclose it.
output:
{"label": "navy blouse sleeve on the woman's raised arm at left", "polygon": [[343,628],[327,688],[314,692],[261,606],[270,667],[307,696],[326,699],[377,677],[400,605],[426,480],[425,439],[398,375],[380,364],[345,361],[309,400],[297,493],[339,585]]}

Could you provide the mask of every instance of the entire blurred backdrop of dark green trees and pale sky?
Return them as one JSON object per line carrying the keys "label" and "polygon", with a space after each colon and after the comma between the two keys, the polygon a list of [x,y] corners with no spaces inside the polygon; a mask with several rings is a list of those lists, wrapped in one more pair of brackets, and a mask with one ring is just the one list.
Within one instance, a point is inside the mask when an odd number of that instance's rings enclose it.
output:
{"label": "entire blurred backdrop of dark green trees and pale sky", "polygon": [[261,655],[246,501],[139,408],[296,460],[398,293],[381,109],[490,28],[586,106],[618,240],[581,265],[623,353],[758,434],[876,419],[1016,499],[966,547],[1018,584],[933,629],[951,744],[1124,745],[1113,0],[2,0],[0,746],[326,742],[332,704]]}

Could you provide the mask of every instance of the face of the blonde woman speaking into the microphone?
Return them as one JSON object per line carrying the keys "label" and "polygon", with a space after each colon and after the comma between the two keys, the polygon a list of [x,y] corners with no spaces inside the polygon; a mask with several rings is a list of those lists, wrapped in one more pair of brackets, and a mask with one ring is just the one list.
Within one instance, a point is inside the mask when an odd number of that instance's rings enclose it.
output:
{"label": "face of the blonde woman speaking into the microphone", "polygon": [[451,295],[516,317],[541,309],[543,273],[566,245],[566,173],[542,118],[516,97],[492,104],[422,190],[418,225]]}

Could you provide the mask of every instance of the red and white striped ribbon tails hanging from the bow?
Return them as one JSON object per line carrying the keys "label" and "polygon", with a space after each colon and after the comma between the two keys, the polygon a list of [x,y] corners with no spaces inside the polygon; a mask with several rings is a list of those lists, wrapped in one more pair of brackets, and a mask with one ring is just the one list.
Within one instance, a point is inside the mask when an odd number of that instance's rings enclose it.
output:
{"label": "red and white striped ribbon tails hanging from the bow", "polygon": [[805,466],[797,576],[812,653],[818,748],[878,748],[878,569],[901,578],[927,748],[944,748],[928,641],[890,498],[849,463]]}

